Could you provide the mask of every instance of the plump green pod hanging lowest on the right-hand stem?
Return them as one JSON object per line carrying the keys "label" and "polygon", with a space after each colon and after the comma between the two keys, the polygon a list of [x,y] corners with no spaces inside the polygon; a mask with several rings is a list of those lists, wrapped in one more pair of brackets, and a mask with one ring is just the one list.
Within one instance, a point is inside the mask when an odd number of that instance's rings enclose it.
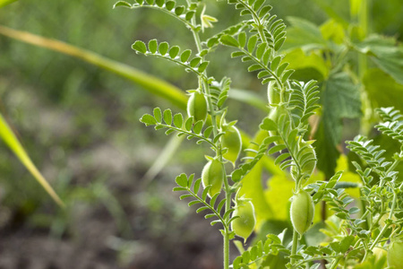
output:
{"label": "plump green pod hanging lowest on the right-hand stem", "polygon": [[302,236],[312,224],[315,207],[311,195],[300,190],[291,202],[291,222],[294,229]]}

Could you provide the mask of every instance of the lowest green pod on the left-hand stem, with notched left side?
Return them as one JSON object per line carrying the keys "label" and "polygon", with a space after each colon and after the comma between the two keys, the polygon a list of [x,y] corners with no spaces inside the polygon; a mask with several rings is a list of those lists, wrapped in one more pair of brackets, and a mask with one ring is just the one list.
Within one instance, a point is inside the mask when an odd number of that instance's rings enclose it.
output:
{"label": "lowest green pod on the left-hand stem, with notched left side", "polygon": [[239,218],[231,222],[231,228],[238,237],[246,241],[256,225],[252,202],[242,198],[236,200],[235,211],[232,213],[232,217],[235,216],[239,216]]}

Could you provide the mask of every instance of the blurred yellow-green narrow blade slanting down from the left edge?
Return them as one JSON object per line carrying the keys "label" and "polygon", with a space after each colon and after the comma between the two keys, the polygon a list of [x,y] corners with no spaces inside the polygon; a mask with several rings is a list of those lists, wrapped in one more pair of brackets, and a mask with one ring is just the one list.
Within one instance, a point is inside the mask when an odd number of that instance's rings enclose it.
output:
{"label": "blurred yellow-green narrow blade slanting down from the left edge", "polygon": [[10,126],[8,126],[4,117],[0,114],[0,137],[3,138],[4,142],[10,147],[10,149],[14,152],[14,154],[20,159],[22,164],[30,171],[32,176],[36,178],[39,184],[47,191],[57,204],[64,207],[64,203],[56,195],[54,189],[47,183],[47,180],[42,176],[39,170],[35,167],[35,165],[30,161],[30,156],[28,156],[27,152],[21,146],[21,143],[18,141],[15,134],[11,130]]}

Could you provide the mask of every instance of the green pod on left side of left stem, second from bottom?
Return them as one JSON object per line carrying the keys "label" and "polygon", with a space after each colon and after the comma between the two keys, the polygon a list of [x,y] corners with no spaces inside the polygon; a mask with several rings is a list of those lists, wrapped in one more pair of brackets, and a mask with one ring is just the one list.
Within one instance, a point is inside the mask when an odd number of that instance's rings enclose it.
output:
{"label": "green pod on left side of left stem, second from bottom", "polygon": [[201,171],[201,182],[203,187],[211,185],[209,190],[210,197],[221,192],[224,183],[224,165],[217,159],[209,161]]}

